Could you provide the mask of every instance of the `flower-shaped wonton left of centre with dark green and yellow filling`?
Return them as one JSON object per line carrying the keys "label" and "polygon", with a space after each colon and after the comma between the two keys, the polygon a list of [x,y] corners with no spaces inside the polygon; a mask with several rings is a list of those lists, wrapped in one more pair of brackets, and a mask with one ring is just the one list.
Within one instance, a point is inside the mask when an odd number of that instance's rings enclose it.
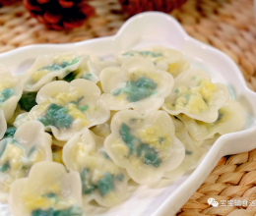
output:
{"label": "flower-shaped wonton left of centre with dark green and yellow filling", "polygon": [[[29,115],[22,115],[27,120],[42,122],[45,130],[50,130],[58,140],[69,140],[109,119],[109,109],[99,97],[100,90],[92,81],[52,81],[38,91],[38,105]],[[18,116],[15,125],[22,122],[23,118]]]}

